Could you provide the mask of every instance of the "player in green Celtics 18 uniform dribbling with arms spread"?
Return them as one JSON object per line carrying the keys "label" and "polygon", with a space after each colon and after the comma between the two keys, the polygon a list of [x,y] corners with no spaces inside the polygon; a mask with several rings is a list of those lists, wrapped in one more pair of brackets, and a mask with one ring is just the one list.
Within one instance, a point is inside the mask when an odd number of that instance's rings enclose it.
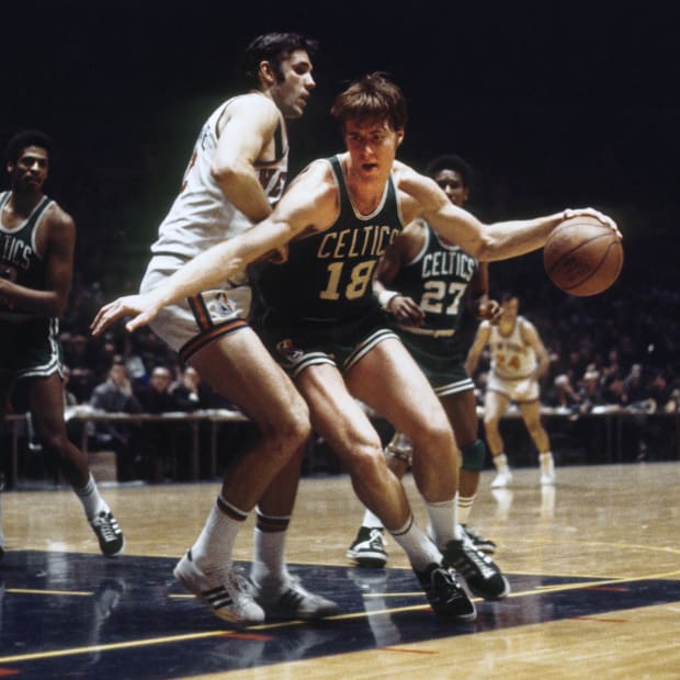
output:
{"label": "player in green Celtics 18 uniform dribbling with arms spread", "polygon": [[[422,372],[394,333],[381,327],[384,319],[378,321],[379,307],[376,310],[371,291],[373,268],[392,238],[417,217],[485,261],[543,247],[551,231],[570,216],[590,214],[616,227],[591,208],[483,225],[453,205],[433,180],[396,160],[406,104],[401,91],[381,73],[350,86],[336,99],[332,112],[342,124],[345,152],[308,166],[257,227],[197,256],[162,286],[104,305],[91,327],[101,333],[114,320],[133,315],[126,328],[134,330],[173,301],[209,288],[288,246],[282,271],[290,274],[290,287],[274,287],[273,293],[292,340],[284,337],[277,343],[277,355],[293,372],[315,430],[348,465],[361,500],[407,553],[432,608],[445,617],[469,620],[476,615],[474,603],[449,567],[486,599],[505,597],[509,585],[453,522],[458,461],[453,432]],[[310,257],[301,260],[306,250]],[[298,260],[299,267],[292,269],[290,263]],[[337,313],[340,317],[333,318]],[[303,317],[306,322],[301,325]],[[303,342],[299,351],[296,338]],[[412,440],[413,469],[428,501],[434,542],[413,522],[405,489],[387,469],[379,437],[354,399]]]}

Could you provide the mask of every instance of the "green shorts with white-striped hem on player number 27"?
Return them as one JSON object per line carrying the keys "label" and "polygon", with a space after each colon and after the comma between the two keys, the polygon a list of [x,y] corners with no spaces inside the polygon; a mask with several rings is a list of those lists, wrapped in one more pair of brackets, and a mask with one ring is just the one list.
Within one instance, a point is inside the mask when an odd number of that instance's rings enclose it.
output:
{"label": "green shorts with white-striped hem on player number 27", "polygon": [[397,332],[439,397],[475,388],[465,371],[465,353],[455,336],[433,338],[401,329]]}

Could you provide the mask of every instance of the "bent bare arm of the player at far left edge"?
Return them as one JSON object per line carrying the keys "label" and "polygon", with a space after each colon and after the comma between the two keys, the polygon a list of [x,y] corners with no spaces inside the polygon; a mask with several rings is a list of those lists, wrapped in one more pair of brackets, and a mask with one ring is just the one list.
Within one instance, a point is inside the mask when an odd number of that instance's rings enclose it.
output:
{"label": "bent bare arm of the player at far left edge", "polygon": [[38,229],[36,248],[47,262],[46,288],[30,288],[0,276],[0,299],[43,317],[59,317],[68,304],[73,275],[76,226],[57,205],[48,208]]}

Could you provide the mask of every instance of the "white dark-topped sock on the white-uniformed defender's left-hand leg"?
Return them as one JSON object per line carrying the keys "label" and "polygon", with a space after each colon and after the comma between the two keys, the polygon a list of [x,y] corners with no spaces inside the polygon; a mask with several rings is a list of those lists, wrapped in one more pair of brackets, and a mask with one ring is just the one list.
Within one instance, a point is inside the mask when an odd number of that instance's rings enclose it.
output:
{"label": "white dark-topped sock on the white-uniformed defender's left-hand leg", "polygon": [[191,548],[194,562],[202,571],[209,574],[231,566],[231,553],[236,536],[248,514],[228,503],[222,496]]}

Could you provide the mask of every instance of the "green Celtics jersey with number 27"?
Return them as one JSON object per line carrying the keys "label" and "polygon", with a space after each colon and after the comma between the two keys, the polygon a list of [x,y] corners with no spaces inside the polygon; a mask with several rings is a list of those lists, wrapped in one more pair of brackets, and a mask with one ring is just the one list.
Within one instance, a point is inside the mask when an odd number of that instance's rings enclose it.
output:
{"label": "green Celtics jersey with number 27", "polygon": [[[428,224],[424,234],[421,251],[401,267],[389,287],[411,297],[424,311],[424,324],[413,332],[457,331],[467,304],[467,288],[479,264],[458,246],[443,243]],[[400,329],[409,331],[406,326]]]}

